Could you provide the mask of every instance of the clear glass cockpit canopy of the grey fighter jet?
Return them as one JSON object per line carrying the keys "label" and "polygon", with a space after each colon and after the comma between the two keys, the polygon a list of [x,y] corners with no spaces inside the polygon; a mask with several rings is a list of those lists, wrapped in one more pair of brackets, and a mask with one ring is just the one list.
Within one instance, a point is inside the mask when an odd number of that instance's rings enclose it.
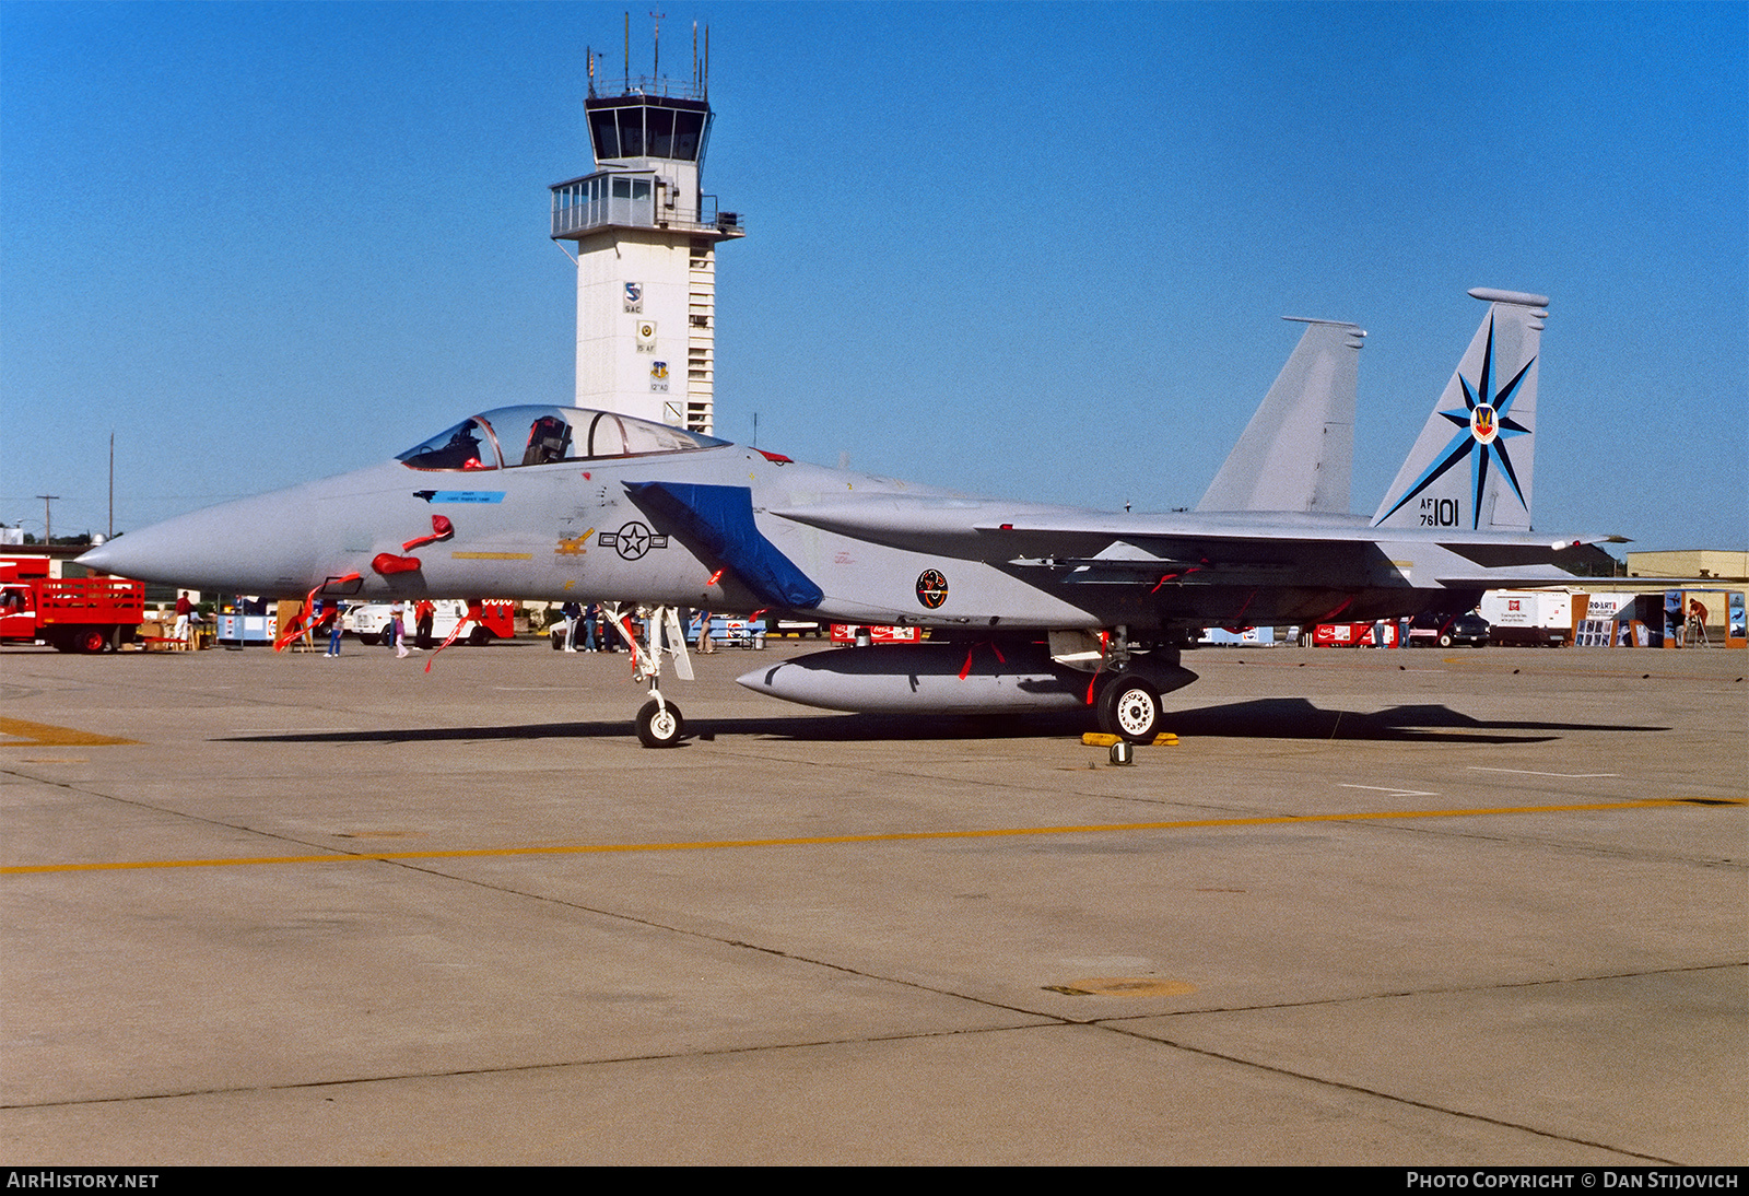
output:
{"label": "clear glass cockpit canopy of the grey fighter jet", "polygon": [[586,407],[498,407],[415,444],[408,469],[521,469],[649,453],[689,453],[728,444],[712,435]]}

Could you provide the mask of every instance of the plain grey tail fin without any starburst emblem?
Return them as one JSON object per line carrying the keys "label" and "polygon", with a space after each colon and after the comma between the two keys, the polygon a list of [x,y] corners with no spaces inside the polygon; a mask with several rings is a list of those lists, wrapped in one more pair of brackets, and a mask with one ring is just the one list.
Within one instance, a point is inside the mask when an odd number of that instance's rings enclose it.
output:
{"label": "plain grey tail fin without any starburst emblem", "polygon": [[1198,511],[1348,511],[1355,372],[1366,332],[1334,320],[1284,318],[1310,327]]}

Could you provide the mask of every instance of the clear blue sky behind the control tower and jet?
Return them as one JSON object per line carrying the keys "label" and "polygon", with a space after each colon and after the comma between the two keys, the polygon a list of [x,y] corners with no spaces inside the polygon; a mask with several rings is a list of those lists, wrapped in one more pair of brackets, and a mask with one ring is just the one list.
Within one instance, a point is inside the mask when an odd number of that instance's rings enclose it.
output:
{"label": "clear blue sky behind the control tower and jet", "polygon": [[[0,3],[0,521],[101,532],[110,432],[124,530],[568,402],[547,185],[624,10]],[[1504,287],[1551,297],[1537,528],[1749,544],[1749,5],[663,10],[749,227],[719,435],[1195,505],[1279,316],[1340,318],[1371,512]]]}

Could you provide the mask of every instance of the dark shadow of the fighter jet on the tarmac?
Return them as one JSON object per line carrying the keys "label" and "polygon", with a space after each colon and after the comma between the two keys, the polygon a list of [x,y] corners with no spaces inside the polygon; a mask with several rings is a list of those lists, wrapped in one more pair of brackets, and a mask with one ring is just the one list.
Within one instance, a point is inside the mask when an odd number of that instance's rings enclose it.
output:
{"label": "dark shadow of the fighter jet on the tarmac", "polygon": [[[1165,727],[1186,738],[1209,740],[1382,740],[1399,743],[1546,743],[1571,731],[1669,731],[1625,722],[1541,722],[1536,719],[1476,719],[1441,705],[1387,710],[1324,710],[1305,698],[1259,698],[1165,717]],[[770,719],[694,719],[687,740],[763,736],[799,741],[881,740],[1007,740],[1081,734],[1093,720],[1065,715],[813,715]],[[630,738],[626,720],[530,722],[481,727],[388,727],[380,731],[304,731],[290,734],[224,736],[226,743],[442,743],[460,740],[575,740]]]}

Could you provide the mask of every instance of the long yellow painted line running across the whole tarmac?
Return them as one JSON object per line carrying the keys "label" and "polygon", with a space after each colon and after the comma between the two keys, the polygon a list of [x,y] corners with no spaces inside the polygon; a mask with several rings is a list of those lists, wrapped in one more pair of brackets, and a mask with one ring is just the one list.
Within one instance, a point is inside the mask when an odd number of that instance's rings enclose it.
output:
{"label": "long yellow painted line running across the whole tarmac", "polygon": [[1209,827],[1272,827],[1296,822],[1368,822],[1394,818],[1481,818],[1490,815],[1578,813],[1586,810],[1667,810],[1670,806],[1749,806],[1749,797],[1648,797],[1576,806],[1494,806],[1488,810],[1376,810],[1266,818],[1184,818],[1175,822],[1107,822],[1069,827],[992,827],[986,831],[887,831],[880,834],[819,834],[777,839],[705,839],[696,843],[577,843],[519,848],[456,848],[449,852],[346,852],[339,855],[248,855],[212,860],[110,860],[96,864],[10,864],[0,876],[30,873],[110,873],[138,867],[243,867],[248,864],[359,864],[364,860],[470,860],[512,855],[609,855],[616,852],[705,852],[714,848],[834,846],[843,843],[906,843],[918,839],[1002,839],[1049,834],[1116,834],[1123,831],[1198,831]]}

